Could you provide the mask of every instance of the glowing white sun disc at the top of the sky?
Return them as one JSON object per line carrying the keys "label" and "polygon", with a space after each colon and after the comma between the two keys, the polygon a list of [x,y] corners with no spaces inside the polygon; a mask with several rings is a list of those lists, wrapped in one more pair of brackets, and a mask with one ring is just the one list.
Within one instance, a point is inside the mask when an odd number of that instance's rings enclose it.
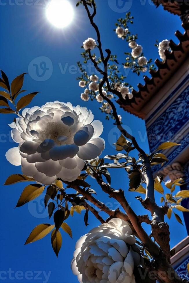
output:
{"label": "glowing white sun disc at the top of the sky", "polygon": [[71,23],[74,11],[67,0],[51,0],[46,10],[46,16],[52,25],[63,28]]}

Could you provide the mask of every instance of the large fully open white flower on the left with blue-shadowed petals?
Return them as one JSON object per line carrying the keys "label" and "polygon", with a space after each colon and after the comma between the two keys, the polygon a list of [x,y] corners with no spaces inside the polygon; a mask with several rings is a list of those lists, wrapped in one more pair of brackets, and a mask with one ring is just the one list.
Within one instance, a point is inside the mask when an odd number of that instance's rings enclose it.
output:
{"label": "large fully open white flower on the left with blue-shadowed petals", "polygon": [[23,174],[37,182],[51,184],[57,177],[73,181],[83,160],[94,159],[104,150],[104,140],[99,137],[102,123],[93,121],[86,107],[55,101],[26,108],[22,115],[10,124],[12,139],[19,146],[8,150],[6,158],[22,165]]}

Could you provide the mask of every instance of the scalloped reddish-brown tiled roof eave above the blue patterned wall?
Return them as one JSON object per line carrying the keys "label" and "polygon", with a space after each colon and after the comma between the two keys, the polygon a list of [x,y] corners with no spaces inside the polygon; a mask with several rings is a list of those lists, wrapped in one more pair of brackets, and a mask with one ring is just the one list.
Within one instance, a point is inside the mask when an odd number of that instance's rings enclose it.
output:
{"label": "scalloped reddish-brown tiled roof eave above the blue patterned wall", "polygon": [[123,101],[117,100],[120,107],[125,111],[144,119],[146,114],[142,111],[144,105],[146,105],[152,97],[164,86],[164,84],[173,76],[178,68],[186,61],[189,55],[189,23],[182,23],[182,27],[185,29],[184,33],[179,31],[175,32],[175,36],[179,39],[179,43],[175,44],[173,40],[170,40],[171,51],[166,50],[166,59],[160,61],[155,60],[157,66],[156,70],[150,70],[151,78],[144,76],[144,85],[139,83],[138,89],[133,90],[133,98],[126,98]]}

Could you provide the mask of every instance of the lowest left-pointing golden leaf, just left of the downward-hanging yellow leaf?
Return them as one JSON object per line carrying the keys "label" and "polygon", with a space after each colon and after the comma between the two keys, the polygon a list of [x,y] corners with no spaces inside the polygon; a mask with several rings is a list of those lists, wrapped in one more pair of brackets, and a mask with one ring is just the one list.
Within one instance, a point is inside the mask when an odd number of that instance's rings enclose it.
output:
{"label": "lowest left-pointing golden leaf, just left of the downward-hanging yellow leaf", "polygon": [[39,224],[37,225],[32,232],[30,233],[29,237],[27,238],[25,245],[29,243],[33,243],[35,241],[41,240],[44,238],[47,234],[49,234],[52,229],[54,228],[54,225],[50,224]]}

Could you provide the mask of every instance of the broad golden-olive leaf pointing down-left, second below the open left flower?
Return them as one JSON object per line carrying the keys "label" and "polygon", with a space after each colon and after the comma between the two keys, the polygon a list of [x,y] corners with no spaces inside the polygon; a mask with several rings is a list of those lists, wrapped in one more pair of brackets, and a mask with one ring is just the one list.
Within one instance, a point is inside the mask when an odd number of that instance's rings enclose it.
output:
{"label": "broad golden-olive leaf pointing down-left, second below the open left flower", "polygon": [[45,189],[45,186],[41,186],[40,184],[32,184],[25,187],[23,192],[21,193],[21,196],[18,200],[18,203],[16,204],[16,207],[22,206],[27,202],[30,202],[31,200],[34,200],[38,196],[43,193],[43,190]]}

